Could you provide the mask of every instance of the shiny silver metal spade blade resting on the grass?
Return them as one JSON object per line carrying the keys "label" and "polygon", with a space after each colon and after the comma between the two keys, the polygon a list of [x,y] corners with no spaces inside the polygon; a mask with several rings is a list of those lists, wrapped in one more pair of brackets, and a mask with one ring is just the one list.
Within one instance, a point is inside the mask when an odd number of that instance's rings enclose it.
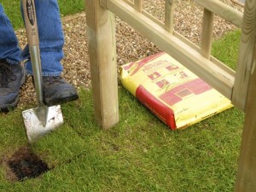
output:
{"label": "shiny silver metal spade blade resting on the grass", "polygon": [[54,131],[58,126],[63,124],[60,105],[48,108],[46,124],[38,118],[37,112],[38,108],[31,108],[22,112],[29,143],[36,142],[38,138],[43,137],[50,131]]}

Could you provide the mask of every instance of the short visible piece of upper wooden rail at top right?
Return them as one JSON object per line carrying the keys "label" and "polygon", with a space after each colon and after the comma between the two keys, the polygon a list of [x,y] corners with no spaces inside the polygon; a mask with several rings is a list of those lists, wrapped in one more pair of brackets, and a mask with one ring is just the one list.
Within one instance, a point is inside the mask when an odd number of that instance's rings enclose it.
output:
{"label": "short visible piece of upper wooden rail at top right", "polygon": [[241,28],[242,13],[236,9],[231,8],[229,5],[216,0],[193,0],[195,3],[200,4],[205,9],[212,13],[224,18],[233,23],[235,26]]}

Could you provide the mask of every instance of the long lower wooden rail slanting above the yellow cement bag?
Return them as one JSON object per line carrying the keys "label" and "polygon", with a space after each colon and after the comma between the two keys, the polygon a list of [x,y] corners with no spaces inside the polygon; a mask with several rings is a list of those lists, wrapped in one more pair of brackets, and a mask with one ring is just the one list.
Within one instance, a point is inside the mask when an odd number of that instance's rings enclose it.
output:
{"label": "long lower wooden rail slanting above the yellow cement bag", "polygon": [[189,70],[196,73],[208,84],[211,84],[224,96],[231,98],[235,77],[228,67],[215,65],[197,50],[183,43],[170,32],[166,32],[165,28],[157,25],[153,20],[148,19],[148,17],[137,12],[131,6],[127,6],[124,1],[107,0],[106,4],[114,15],[125,20],[138,32],[141,32],[145,38],[148,38],[160,49],[172,55],[174,59],[188,67]]}

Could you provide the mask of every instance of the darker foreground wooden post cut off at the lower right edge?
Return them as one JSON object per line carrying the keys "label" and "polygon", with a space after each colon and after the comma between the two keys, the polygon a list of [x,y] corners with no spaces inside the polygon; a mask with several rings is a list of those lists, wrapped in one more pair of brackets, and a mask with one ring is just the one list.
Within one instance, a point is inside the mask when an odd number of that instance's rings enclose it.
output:
{"label": "darker foreground wooden post cut off at the lower right edge", "polygon": [[[255,61],[255,60],[254,60]],[[255,65],[255,64],[254,64]],[[249,83],[246,118],[241,141],[241,154],[236,180],[236,192],[256,191],[256,71]]]}

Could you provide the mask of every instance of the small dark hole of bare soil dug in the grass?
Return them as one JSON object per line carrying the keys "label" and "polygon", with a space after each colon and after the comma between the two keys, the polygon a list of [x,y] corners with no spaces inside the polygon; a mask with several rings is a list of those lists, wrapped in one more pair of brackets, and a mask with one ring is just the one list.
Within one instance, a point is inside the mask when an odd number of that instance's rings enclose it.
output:
{"label": "small dark hole of bare soil dug in the grass", "polygon": [[47,164],[32,153],[31,148],[20,148],[7,162],[9,168],[15,173],[18,181],[25,178],[38,177],[49,171]]}

